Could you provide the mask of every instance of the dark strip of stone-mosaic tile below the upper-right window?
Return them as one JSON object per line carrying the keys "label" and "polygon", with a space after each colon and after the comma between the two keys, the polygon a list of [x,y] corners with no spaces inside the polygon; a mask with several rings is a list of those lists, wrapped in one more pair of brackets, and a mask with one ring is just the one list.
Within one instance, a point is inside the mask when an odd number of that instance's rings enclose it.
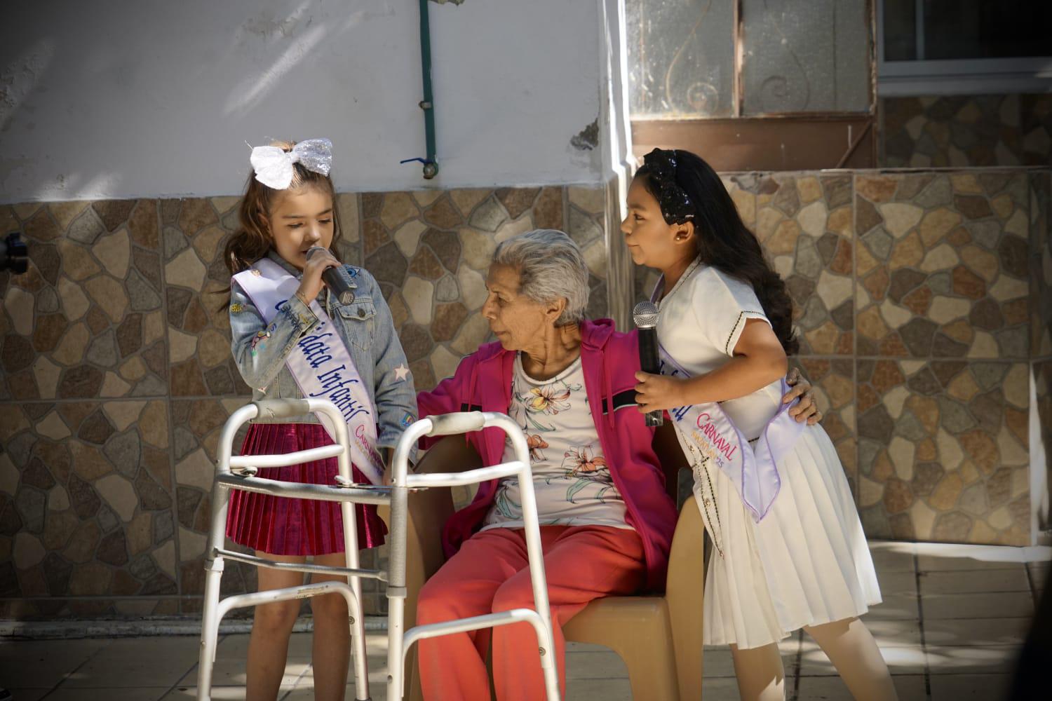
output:
{"label": "dark strip of stone-mosaic tile below the upper-right window", "polygon": [[881,100],[881,165],[970,167],[1052,163],[1052,96]]}

